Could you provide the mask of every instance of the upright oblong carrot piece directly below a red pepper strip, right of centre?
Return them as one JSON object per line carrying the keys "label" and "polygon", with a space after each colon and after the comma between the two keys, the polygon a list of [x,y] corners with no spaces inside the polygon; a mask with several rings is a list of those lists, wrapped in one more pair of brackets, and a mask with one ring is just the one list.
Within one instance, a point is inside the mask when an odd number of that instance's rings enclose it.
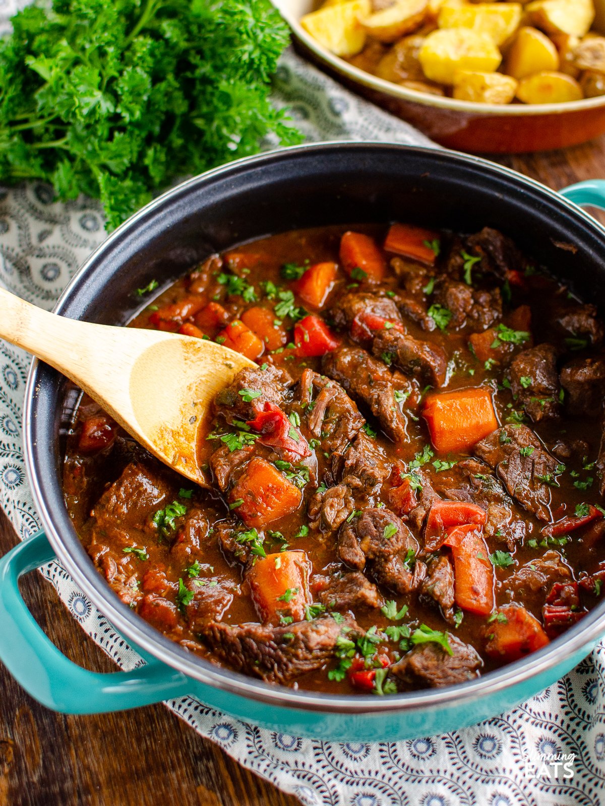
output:
{"label": "upright oblong carrot piece directly below a red pepper strip, right of centre", "polygon": [[494,567],[482,534],[468,530],[461,542],[452,546],[452,556],[456,604],[487,616],[494,609]]}

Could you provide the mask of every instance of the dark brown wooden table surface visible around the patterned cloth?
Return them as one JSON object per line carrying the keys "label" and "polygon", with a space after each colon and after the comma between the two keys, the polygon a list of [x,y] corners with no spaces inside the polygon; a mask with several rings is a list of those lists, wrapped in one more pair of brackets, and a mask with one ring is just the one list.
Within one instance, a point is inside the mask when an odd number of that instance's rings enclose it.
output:
{"label": "dark brown wooden table surface visible around the patterned cloth", "polygon": [[[559,189],[605,178],[605,136],[559,152],[499,160]],[[605,222],[605,216],[599,215]],[[0,512],[0,555],[17,542]],[[95,671],[114,664],[88,640],[38,575],[23,582],[56,646]],[[2,625],[0,625],[2,629]],[[163,705],[65,717],[27,696],[0,666],[0,806],[296,806],[198,736]]]}

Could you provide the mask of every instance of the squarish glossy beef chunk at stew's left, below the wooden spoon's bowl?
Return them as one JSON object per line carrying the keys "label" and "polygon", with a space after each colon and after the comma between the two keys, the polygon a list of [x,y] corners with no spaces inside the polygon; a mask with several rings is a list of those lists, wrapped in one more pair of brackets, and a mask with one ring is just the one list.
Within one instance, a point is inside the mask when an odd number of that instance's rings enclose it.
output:
{"label": "squarish glossy beef chunk at stew's left, below the wooden spoon's bowl", "polygon": [[155,529],[149,511],[163,509],[173,497],[165,476],[160,464],[150,459],[128,464],[94,506],[95,526],[106,533]]}

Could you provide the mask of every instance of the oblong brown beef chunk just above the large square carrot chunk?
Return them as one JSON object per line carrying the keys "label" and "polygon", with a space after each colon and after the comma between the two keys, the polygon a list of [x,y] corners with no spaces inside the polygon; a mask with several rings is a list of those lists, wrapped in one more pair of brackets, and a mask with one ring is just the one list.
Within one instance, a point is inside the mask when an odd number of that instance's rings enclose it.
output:
{"label": "oblong brown beef chunk just above the large square carrot chunk", "polygon": [[444,383],[447,357],[437,344],[421,342],[400,330],[378,330],[372,343],[373,355],[396,364],[406,375],[419,376],[423,383],[438,387]]}

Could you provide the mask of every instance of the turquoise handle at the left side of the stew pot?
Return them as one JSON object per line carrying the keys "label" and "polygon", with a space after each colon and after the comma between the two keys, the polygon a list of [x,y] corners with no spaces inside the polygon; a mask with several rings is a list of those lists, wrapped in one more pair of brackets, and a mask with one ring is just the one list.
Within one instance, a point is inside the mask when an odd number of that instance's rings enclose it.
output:
{"label": "turquoise handle at the left side of the stew pot", "polygon": [[56,559],[44,532],[0,559],[0,660],[18,683],[60,713],[106,713],[188,693],[192,681],[136,647],[146,664],[100,674],[72,663],[46,637],[19,592],[19,577]]}

